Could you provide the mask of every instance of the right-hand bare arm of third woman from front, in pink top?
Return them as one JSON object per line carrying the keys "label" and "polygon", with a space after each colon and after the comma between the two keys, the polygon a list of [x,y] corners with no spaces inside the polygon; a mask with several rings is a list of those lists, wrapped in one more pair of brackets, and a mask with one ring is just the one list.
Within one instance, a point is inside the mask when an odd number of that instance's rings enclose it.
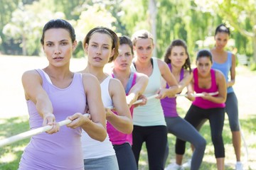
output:
{"label": "right-hand bare arm of third woman from front, in pink top", "polygon": [[132,106],[132,103],[137,101],[139,96],[141,96],[144,93],[146,86],[149,82],[149,77],[147,77],[145,74],[138,72],[136,74],[136,84],[132,86],[132,89],[130,89],[129,91],[129,95],[127,96],[127,103],[129,107]]}

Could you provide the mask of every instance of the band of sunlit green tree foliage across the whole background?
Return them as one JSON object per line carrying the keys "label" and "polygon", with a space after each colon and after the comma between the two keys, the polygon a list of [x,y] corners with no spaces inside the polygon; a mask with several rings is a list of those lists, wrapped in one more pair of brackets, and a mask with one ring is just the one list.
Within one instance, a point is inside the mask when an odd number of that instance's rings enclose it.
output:
{"label": "band of sunlit green tree foliage across the whole background", "polygon": [[[1,0],[0,50],[6,53],[15,45],[26,49],[28,55],[40,53],[41,27],[51,18],[65,18],[73,23],[78,40],[95,26],[107,26],[119,35],[131,36],[136,30],[151,30],[149,0]],[[213,36],[215,27],[220,23],[231,26],[232,38],[238,52],[252,55],[256,42],[256,2],[251,0],[159,0],[156,1],[156,51],[162,57],[166,47],[174,39],[183,39],[188,52],[193,57],[208,37]],[[43,6],[43,8],[42,8]],[[14,22],[15,21],[15,22]],[[255,38],[256,41],[256,38]],[[253,46],[255,45],[255,46]],[[82,53],[78,47],[75,57]],[[9,50],[11,52],[12,50]]]}

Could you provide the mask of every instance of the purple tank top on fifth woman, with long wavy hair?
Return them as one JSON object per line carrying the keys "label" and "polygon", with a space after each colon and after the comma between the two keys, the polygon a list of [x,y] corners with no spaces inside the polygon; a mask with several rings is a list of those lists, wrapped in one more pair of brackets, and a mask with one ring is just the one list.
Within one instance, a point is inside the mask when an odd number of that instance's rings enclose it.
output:
{"label": "purple tank top on fifth woman, with long wavy hair", "polygon": [[[171,70],[171,63],[168,64],[169,69]],[[180,79],[181,81],[184,77],[184,69],[181,69]],[[166,83],[166,88],[169,88],[169,85]],[[164,111],[164,117],[174,118],[178,117],[177,109],[176,109],[176,97],[175,98],[163,98],[161,99],[161,106]]]}

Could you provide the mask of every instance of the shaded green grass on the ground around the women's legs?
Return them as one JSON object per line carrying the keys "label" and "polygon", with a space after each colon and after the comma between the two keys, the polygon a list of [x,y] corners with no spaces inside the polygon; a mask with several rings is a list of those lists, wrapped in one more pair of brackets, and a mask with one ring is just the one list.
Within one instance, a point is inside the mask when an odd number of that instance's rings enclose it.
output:
{"label": "shaded green grass on the ground around the women's legs", "polygon": [[[183,111],[181,108],[178,109],[179,113],[181,113],[181,117],[185,114],[185,111]],[[251,135],[255,135],[255,131],[252,131],[251,128],[254,127],[256,122],[256,115],[250,115],[250,118],[240,119],[240,123],[242,125],[242,130],[244,132],[244,135],[247,139],[250,139]],[[29,129],[28,125],[28,116],[21,116],[21,117],[15,117],[15,118],[2,118],[0,119],[0,139],[3,139],[4,137],[9,137],[12,135],[16,135],[20,132],[25,132]],[[213,145],[211,143],[210,139],[210,127],[208,122],[203,125],[203,128],[201,129],[201,134],[205,139],[207,140],[207,147],[205,152],[205,157],[203,159],[203,164],[201,165],[201,169],[216,169],[215,166],[215,157],[214,157],[214,150]],[[174,145],[176,138],[174,135],[169,134],[168,135],[169,140],[169,158],[166,164],[169,164],[169,162],[174,162]],[[228,125],[227,116],[225,118],[225,125],[223,128],[223,140],[225,142],[225,154],[226,159],[234,159],[234,153],[233,153],[233,146],[231,145],[232,139],[231,139],[231,132]],[[24,147],[28,144],[29,140],[21,140],[19,142],[16,142],[12,145],[7,145],[0,150],[0,169],[3,170],[12,170],[18,168],[18,162],[21,158],[21,154],[23,153]],[[249,148],[256,149],[256,145],[254,142],[248,142],[247,145],[249,145]],[[189,144],[186,144],[186,154],[184,155],[183,162],[186,162],[187,159],[191,158],[191,149]],[[245,153],[242,153],[242,156],[244,156]],[[255,159],[254,159],[255,160]],[[147,166],[147,154],[146,154],[146,148],[143,146],[140,161],[139,161],[139,169],[148,169]],[[226,169],[231,170],[233,169],[233,165],[226,165]]]}

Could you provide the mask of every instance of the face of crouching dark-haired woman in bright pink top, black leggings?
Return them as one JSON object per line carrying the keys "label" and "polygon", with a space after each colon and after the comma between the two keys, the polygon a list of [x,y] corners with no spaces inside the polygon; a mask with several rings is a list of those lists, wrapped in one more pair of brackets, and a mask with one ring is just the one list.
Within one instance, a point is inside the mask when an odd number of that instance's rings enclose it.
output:
{"label": "face of crouching dark-haired woman in bright pink top, black leggings", "polygon": [[198,74],[201,77],[206,77],[210,73],[210,67],[212,66],[212,62],[210,61],[209,57],[200,57],[196,61],[196,67],[198,69]]}

